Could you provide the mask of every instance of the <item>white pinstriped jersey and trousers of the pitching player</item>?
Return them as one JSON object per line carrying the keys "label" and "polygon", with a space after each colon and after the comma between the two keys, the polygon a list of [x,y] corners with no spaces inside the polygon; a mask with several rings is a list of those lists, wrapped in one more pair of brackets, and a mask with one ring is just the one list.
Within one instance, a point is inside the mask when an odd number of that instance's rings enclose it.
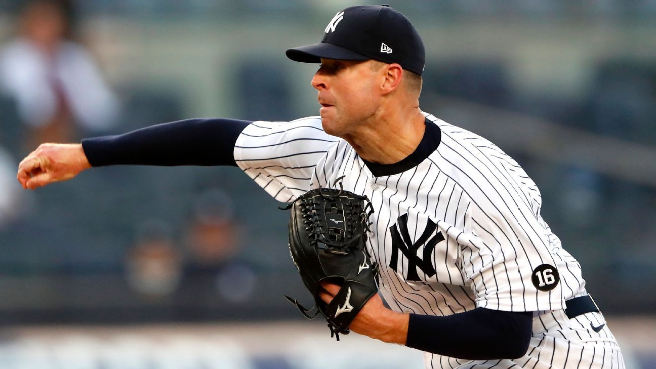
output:
{"label": "white pinstriped jersey and trousers of the pitching player", "polygon": [[589,329],[588,322],[605,324],[600,313],[571,321],[563,313],[565,300],[586,293],[585,282],[579,263],[542,219],[535,183],[495,144],[426,118],[440,129],[439,145],[418,165],[392,175],[373,175],[348,142],[323,132],[319,117],[256,121],[237,139],[234,155],[281,202],[310,188],[335,188],[340,177],[345,190],[367,195],[375,210],[367,247],[380,266],[380,292],[394,311],[535,312],[525,357],[486,362],[426,353],[427,368],[578,367],[575,361],[621,368],[607,327]]}

